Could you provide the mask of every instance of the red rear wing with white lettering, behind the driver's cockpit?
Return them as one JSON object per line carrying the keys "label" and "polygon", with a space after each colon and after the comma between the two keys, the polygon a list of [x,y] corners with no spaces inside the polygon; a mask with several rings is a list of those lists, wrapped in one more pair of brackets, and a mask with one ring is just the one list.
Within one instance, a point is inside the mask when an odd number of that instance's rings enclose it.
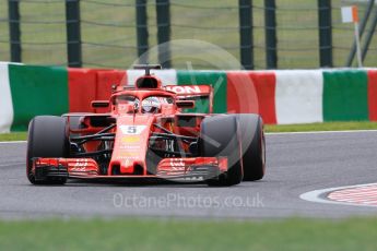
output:
{"label": "red rear wing with white lettering, behind the driver's cockpit", "polygon": [[213,112],[213,88],[211,85],[166,85],[166,91],[175,93],[178,100],[201,100],[208,103],[209,112]]}

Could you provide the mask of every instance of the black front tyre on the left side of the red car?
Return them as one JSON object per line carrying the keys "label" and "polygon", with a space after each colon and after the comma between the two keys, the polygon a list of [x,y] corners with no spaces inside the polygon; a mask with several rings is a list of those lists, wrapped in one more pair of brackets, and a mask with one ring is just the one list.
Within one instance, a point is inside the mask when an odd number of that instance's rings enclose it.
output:
{"label": "black front tyre on the left side of the red car", "polygon": [[69,156],[67,119],[56,116],[37,116],[28,124],[26,176],[33,184],[63,184],[67,178],[51,177],[35,180],[32,172],[33,158]]}

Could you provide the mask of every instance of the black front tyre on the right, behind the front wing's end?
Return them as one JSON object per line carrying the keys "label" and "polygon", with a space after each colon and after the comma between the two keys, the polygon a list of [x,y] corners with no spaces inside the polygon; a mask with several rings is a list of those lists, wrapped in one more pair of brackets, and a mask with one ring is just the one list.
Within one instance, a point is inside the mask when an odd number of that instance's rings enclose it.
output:
{"label": "black front tyre on the right, behind the front wing's end", "polygon": [[207,180],[209,186],[234,186],[243,180],[237,120],[221,115],[205,118],[201,123],[199,152],[204,157],[227,157],[228,170]]}

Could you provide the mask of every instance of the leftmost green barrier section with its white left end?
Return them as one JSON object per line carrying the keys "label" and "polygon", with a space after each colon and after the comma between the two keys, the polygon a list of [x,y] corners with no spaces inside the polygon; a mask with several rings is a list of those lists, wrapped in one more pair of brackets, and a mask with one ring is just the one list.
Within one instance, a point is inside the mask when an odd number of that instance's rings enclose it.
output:
{"label": "leftmost green barrier section with its white left end", "polygon": [[1,65],[1,132],[25,131],[28,121],[37,115],[61,115],[68,111],[66,68],[10,63]]}

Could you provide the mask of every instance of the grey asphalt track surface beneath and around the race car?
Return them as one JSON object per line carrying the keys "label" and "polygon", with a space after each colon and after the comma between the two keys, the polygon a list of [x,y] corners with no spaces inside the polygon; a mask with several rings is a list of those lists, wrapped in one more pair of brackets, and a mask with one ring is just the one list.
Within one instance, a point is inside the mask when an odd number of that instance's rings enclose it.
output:
{"label": "grey asphalt track surface beneath and around the race car", "polygon": [[0,218],[231,217],[339,218],[377,215],[376,207],[308,202],[302,193],[377,182],[377,132],[267,135],[263,180],[231,188],[205,184],[107,184],[70,181],[31,186],[25,143],[0,144]]}

